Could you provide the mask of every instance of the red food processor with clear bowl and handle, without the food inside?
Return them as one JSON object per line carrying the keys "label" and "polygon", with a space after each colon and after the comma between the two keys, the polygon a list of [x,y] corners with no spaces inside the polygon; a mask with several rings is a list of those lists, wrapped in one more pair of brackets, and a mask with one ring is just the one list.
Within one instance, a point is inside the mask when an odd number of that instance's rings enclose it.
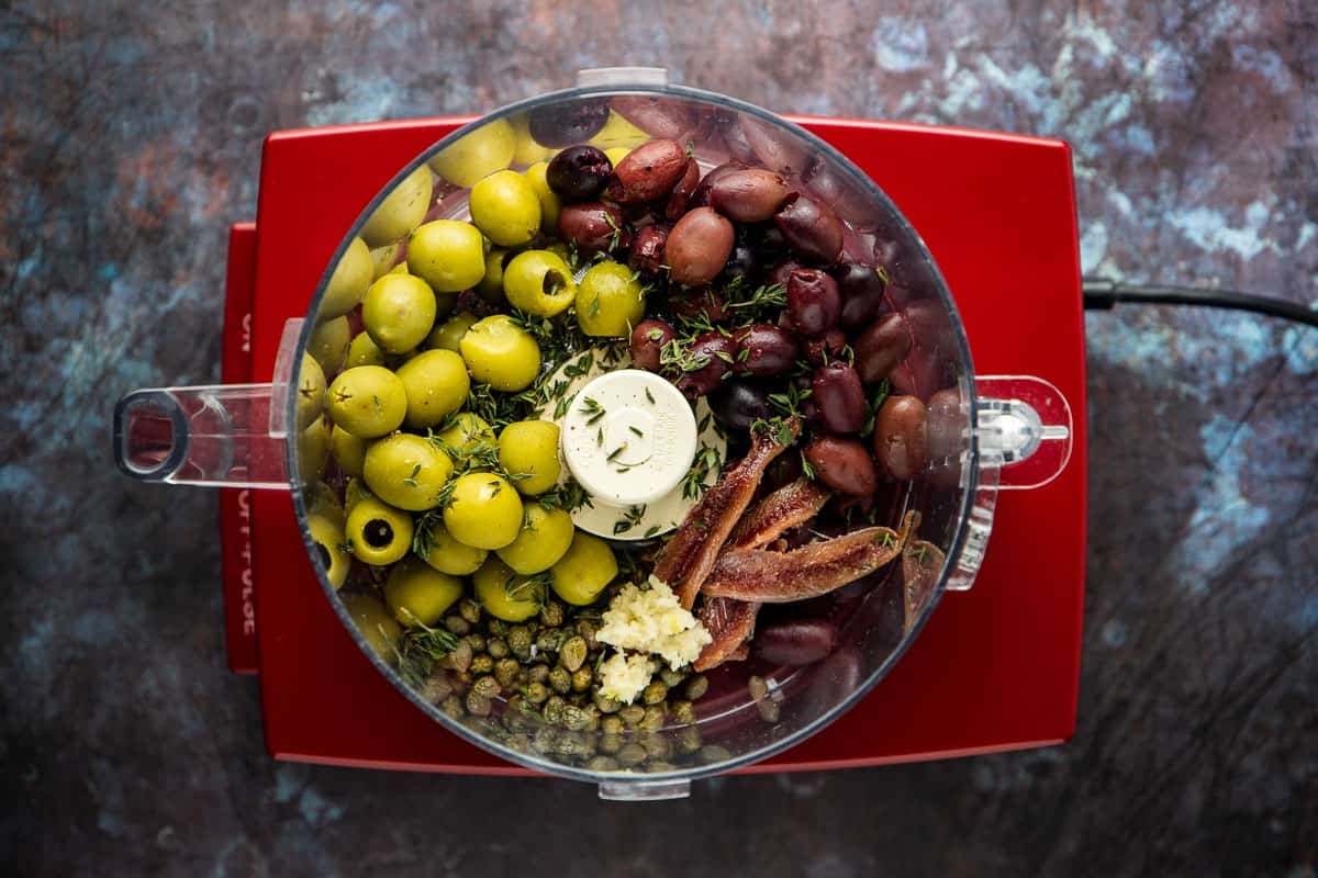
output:
{"label": "red food processor with clear bowl and handle, without the food inside", "polygon": [[[298,412],[303,354],[345,349],[347,336],[331,337],[337,329],[327,325],[344,320],[351,332],[357,320],[324,311],[335,266],[385,199],[431,168],[424,220],[465,220],[480,178],[453,171],[455,157],[469,158],[481,132],[513,133],[509,155],[481,158],[488,171],[525,171],[565,145],[536,141],[530,120],[571,126],[583,108],[600,107],[609,120],[601,147],[671,138],[689,145],[701,174],[729,162],[766,167],[829,204],[845,224],[845,253],[887,272],[884,313],[912,326],[891,387],[929,404],[927,462],[908,480],[884,480],[875,502],[878,524],[912,523],[917,540],[830,604],[838,637],[829,654],[799,666],[753,656],[716,667],[693,723],[670,717],[621,732],[623,745],[643,740],[647,758],[608,770],[589,767],[589,757],[610,732],[559,729],[527,712],[514,740],[500,721],[506,698],[493,699],[488,715],[445,712],[435,698],[445,669],[405,679],[389,652],[373,648],[351,606],[355,588],[369,583],[340,591],[308,529],[319,495],[327,484],[341,492],[343,480],[326,469],[324,442],[308,437]],[[389,259],[385,270],[406,265],[406,253]],[[597,783],[606,798],[655,799],[726,771],[1033,746],[1074,728],[1085,433],[1073,412],[1083,412],[1085,383],[1074,194],[1060,141],[783,118],[671,86],[647,68],[584,71],[576,88],[476,120],[279,132],[262,157],[257,222],[231,232],[224,342],[223,384],[120,400],[115,452],[133,478],[223,488],[229,661],[260,673],[277,757],[540,771]],[[330,359],[327,379],[345,354]],[[619,359],[577,378],[602,392],[633,371],[626,366]],[[575,516],[576,527],[627,541],[605,512],[639,500],[648,511],[673,495],[672,477],[716,438],[697,429],[702,404],[684,408],[677,395],[666,411],[692,423],[660,445],[677,449],[681,465],[646,471],[648,458],[638,458],[630,466],[646,478],[633,483],[602,478],[598,455],[564,440],[567,469],[598,500]],[[552,420],[552,408],[535,413]],[[565,429],[572,416],[558,421]],[[637,424],[619,429],[629,426]],[[704,474],[708,484],[717,470]],[[671,515],[646,520],[631,545],[680,528],[689,508],[676,503]],[[941,602],[945,591],[965,594]]]}

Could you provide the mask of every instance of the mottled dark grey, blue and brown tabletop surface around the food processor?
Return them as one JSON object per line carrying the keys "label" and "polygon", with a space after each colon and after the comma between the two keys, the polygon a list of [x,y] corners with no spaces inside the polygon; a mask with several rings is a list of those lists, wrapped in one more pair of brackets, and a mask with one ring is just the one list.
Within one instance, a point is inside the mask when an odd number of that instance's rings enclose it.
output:
{"label": "mottled dark grey, blue and brown tabletop surface around the food processor", "polygon": [[633,807],[265,756],[256,684],[223,665],[215,498],[119,478],[107,419],[129,388],[217,376],[225,226],[254,216],[272,129],[482,112],[579,67],[666,65],[784,112],[1068,138],[1087,271],[1318,297],[1305,0],[467,5],[0,0],[0,862],[1313,875],[1318,332],[1227,313],[1087,319],[1064,748]]}

